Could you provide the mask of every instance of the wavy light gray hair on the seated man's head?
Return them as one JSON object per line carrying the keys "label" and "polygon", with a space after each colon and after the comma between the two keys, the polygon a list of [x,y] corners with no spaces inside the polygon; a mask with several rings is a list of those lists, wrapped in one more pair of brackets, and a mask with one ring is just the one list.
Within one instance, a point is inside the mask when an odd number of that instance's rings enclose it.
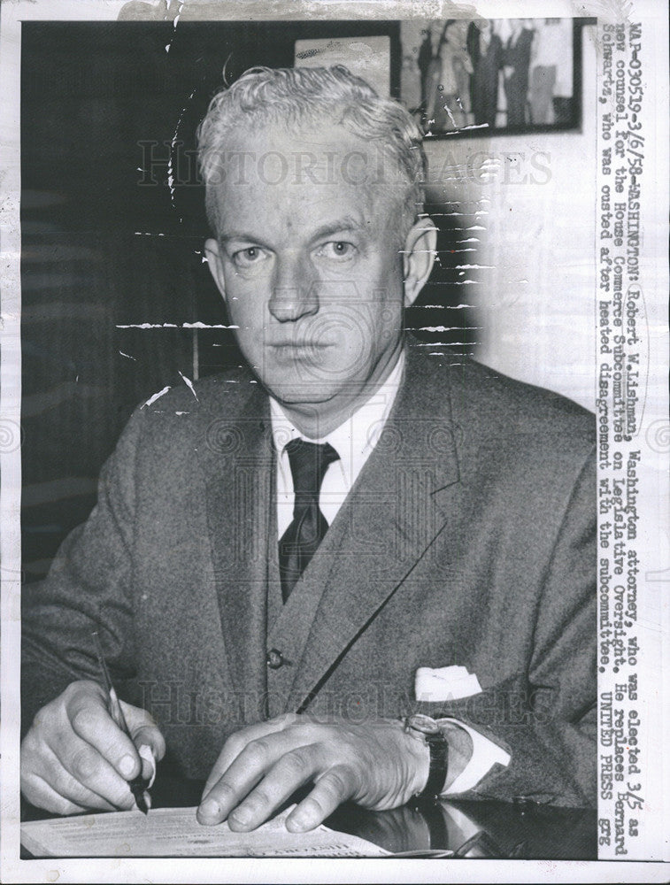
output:
{"label": "wavy light gray hair on the seated man's head", "polygon": [[[402,212],[404,235],[423,211],[426,155],[420,127],[401,104],[377,95],[365,80],[343,65],[333,67],[251,67],[212,98],[197,128],[198,161],[206,188],[207,218],[219,230],[219,199],[213,184],[220,181],[220,162],[227,137],[243,120],[250,125],[305,122],[341,125],[365,141],[376,142],[382,154],[406,181]],[[379,182],[376,182],[379,183]],[[395,186],[397,188],[397,184]]]}

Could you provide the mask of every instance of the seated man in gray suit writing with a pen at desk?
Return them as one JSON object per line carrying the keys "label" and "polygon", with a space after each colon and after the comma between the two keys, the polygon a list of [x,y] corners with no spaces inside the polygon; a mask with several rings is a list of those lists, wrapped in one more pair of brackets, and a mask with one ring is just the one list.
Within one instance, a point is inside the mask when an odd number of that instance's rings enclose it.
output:
{"label": "seated man in gray suit writing with a pen at desk", "polygon": [[127,808],[167,747],[238,830],[305,784],[295,830],[345,799],[593,803],[592,416],[405,338],[435,228],[399,105],[252,69],[199,140],[249,365],[135,412],[27,591],[24,794]]}

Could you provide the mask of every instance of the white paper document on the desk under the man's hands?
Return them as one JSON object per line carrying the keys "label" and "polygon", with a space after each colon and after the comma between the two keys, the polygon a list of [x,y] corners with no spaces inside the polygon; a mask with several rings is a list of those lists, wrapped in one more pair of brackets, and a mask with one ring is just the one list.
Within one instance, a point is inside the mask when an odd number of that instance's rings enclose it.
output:
{"label": "white paper document on the desk under the man's hands", "polygon": [[251,833],[234,833],[227,823],[203,827],[196,808],[108,812],[33,820],[21,825],[21,844],[48,858],[381,858],[389,854],[358,836],[321,825],[289,833],[291,809]]}

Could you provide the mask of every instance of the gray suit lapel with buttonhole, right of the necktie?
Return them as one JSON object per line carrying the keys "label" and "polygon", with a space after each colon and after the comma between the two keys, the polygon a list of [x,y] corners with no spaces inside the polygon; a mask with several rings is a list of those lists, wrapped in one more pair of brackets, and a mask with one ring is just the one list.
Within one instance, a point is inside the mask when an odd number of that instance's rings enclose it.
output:
{"label": "gray suit lapel with buttonhole, right of the necktie", "polygon": [[449,517],[458,428],[445,373],[415,348],[407,357],[379,443],[317,553],[321,561],[330,554],[331,566],[290,691],[297,708],[309,703]]}

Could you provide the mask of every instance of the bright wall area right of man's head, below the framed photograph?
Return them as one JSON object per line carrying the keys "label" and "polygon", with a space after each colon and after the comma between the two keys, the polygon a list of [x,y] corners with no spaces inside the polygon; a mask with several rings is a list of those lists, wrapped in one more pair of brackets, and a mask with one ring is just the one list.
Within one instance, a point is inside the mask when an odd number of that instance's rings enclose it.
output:
{"label": "bright wall area right of man's head, below the framed photograph", "polygon": [[[579,132],[427,142],[431,202],[460,212],[476,358],[595,402],[596,47],[582,29]],[[445,202],[446,201],[446,202]],[[453,201],[453,202],[452,202]],[[464,279],[462,278],[462,279]]]}

